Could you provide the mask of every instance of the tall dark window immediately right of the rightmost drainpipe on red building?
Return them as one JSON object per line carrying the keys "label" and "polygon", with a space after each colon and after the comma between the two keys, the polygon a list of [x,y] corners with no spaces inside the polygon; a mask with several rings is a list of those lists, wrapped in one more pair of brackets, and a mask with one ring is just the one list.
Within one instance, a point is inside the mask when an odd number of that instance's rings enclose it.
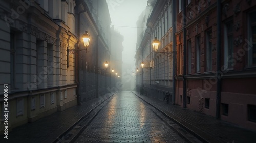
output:
{"label": "tall dark window immediately right of the rightmost drainpipe on red building", "polygon": [[225,37],[224,37],[224,65],[226,68],[231,69],[233,68],[233,42],[234,42],[234,35],[233,35],[233,20],[227,22],[225,24]]}

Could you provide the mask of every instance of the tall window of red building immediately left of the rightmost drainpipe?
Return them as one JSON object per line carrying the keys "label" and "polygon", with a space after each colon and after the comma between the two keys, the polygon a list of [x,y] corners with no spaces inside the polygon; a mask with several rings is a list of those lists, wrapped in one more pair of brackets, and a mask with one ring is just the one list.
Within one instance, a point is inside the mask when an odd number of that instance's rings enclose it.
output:
{"label": "tall window of red building immediately left of the rightmost drainpipe", "polygon": [[212,70],[212,37],[211,30],[206,32],[206,71]]}

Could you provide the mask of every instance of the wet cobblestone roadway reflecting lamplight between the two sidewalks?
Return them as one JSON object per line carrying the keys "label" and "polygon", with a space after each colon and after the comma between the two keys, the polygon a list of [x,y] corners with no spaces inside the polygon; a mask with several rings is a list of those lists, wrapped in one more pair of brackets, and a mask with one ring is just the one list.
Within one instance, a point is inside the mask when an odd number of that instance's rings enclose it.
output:
{"label": "wet cobblestone roadway reflecting lamplight between the two sidewalks", "polygon": [[102,107],[75,142],[190,142],[168,124],[175,123],[125,91]]}

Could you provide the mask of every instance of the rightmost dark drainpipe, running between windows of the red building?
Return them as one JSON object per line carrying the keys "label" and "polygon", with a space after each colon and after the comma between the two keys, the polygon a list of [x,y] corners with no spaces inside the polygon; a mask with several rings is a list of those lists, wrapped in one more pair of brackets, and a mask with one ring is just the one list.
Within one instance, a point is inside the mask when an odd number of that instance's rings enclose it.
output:
{"label": "rightmost dark drainpipe, running between windows of the red building", "polygon": [[216,119],[220,118],[221,106],[221,0],[217,0],[217,89],[216,89]]}

